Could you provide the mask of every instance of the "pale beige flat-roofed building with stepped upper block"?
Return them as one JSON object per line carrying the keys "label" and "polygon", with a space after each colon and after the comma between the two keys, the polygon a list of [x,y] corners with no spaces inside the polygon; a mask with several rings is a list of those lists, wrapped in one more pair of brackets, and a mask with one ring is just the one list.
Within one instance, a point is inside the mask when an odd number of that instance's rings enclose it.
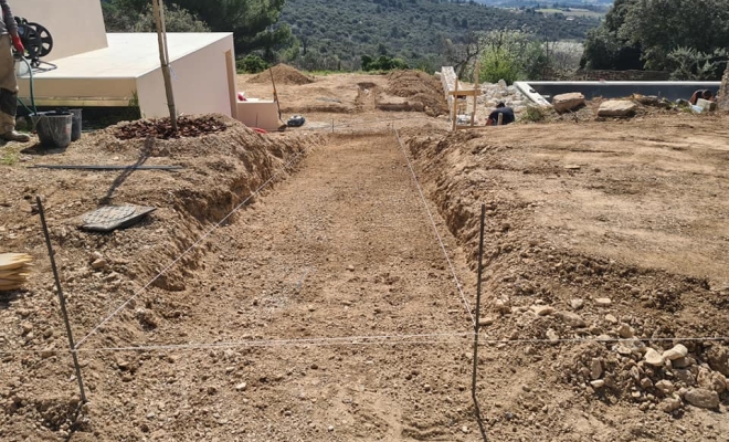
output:
{"label": "pale beige flat-roofed building with stepped upper block", "polygon": [[[110,33],[98,0],[15,0],[13,14],[53,38],[42,60],[56,69],[33,76],[36,106],[129,106],[144,117],[169,115],[156,33]],[[237,117],[232,33],[169,33],[177,109]],[[42,66],[43,67],[43,66]],[[19,78],[30,102],[30,76]]]}

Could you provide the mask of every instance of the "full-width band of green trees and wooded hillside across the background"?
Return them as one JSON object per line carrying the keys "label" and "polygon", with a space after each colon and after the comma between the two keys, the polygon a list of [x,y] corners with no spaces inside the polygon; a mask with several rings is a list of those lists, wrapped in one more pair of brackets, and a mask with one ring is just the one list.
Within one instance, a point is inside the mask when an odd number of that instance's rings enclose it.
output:
{"label": "full-width band of green trees and wooded hillside across the background", "polygon": [[[103,0],[107,30],[152,31],[149,3]],[[554,54],[543,42],[572,41],[584,42],[580,63],[587,70],[657,70],[676,80],[716,80],[729,57],[726,3],[615,0],[602,21],[462,0],[171,0],[166,13],[170,32],[234,32],[245,70],[285,62],[308,71],[456,65],[463,72],[473,67],[474,50],[493,48],[494,35],[508,35],[510,44],[477,55],[510,77],[549,71]]]}

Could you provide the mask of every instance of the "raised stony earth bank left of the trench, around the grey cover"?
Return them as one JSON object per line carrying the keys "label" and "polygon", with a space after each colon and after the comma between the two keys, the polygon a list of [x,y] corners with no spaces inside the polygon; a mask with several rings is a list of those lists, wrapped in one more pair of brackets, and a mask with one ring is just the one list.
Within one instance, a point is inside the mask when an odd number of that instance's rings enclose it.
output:
{"label": "raised stony earth bank left of the trench, around the grey cover", "polygon": [[[68,315],[74,335],[82,339],[113,308],[130,299],[128,308],[92,336],[86,345],[114,345],[139,341],[146,334],[166,323],[178,323],[192,308],[177,296],[162,299],[160,293],[176,294],[190,284],[192,272],[205,266],[211,253],[210,241],[225,234],[225,227],[235,215],[214,223],[231,213],[233,208],[246,206],[293,170],[306,149],[317,143],[316,136],[294,134],[260,135],[240,122],[225,116],[203,117],[202,122],[220,124],[224,130],[200,137],[177,139],[120,140],[116,134],[124,126],[145,127],[146,122],[125,123],[74,141],[63,151],[45,150],[25,154],[24,166],[38,164],[97,164],[97,165],[179,165],[175,172],[160,171],[93,171],[33,169],[20,166],[0,166],[9,178],[0,200],[0,251],[23,250],[35,257],[33,277],[24,290],[0,301],[0,322],[18,323],[0,334],[3,354],[0,371],[3,388],[0,391],[0,439],[39,440],[38,429],[44,434],[55,433],[64,440],[87,440],[87,420],[107,434],[138,431],[116,425],[107,407],[116,407],[103,398],[124,393],[120,389],[96,382],[96,372],[114,367],[120,382],[130,382],[146,364],[145,357],[134,355],[87,354],[86,390],[97,394],[95,409],[77,411],[73,399],[77,393],[60,379],[68,372],[70,358],[60,349],[67,347],[63,322],[54,296],[47,286],[51,272],[45,257],[43,234],[39,227],[32,197],[43,196],[51,240],[56,249],[59,270],[67,294]],[[29,150],[27,150],[29,151]],[[77,229],[77,217],[97,209],[102,203],[138,203],[157,208],[154,214],[128,229],[109,234],[88,233]],[[221,232],[222,231],[222,232]],[[182,256],[182,253],[187,254]],[[178,256],[179,261],[173,262]],[[140,290],[166,266],[169,270]],[[92,265],[93,264],[93,265]],[[204,294],[196,294],[204,296]],[[23,326],[20,326],[20,322]],[[42,348],[44,351],[20,352]],[[63,367],[63,368],[62,368]],[[73,371],[73,370],[71,370]],[[106,376],[106,375],[103,375]],[[67,379],[67,378],[66,378]],[[101,379],[101,378],[99,378]],[[130,401],[129,398],[125,402]],[[144,430],[142,430],[144,431]],[[74,432],[76,432],[74,434]],[[10,438],[10,439],[8,439]],[[138,434],[129,435],[138,440]]]}

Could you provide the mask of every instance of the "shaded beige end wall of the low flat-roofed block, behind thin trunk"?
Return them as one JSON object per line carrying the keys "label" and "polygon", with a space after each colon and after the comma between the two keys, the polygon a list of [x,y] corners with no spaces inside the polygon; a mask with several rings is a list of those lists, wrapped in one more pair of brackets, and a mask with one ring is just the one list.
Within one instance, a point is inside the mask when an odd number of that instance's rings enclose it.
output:
{"label": "shaded beige end wall of the low flat-roofed block, behind thin trunk", "polygon": [[[231,110],[231,67],[226,53],[233,52],[233,34],[204,49],[192,52],[171,63],[175,105],[180,114],[219,113],[228,116]],[[234,55],[233,55],[234,56]],[[155,70],[137,80],[137,93],[142,117],[169,116],[165,81],[161,70]]]}

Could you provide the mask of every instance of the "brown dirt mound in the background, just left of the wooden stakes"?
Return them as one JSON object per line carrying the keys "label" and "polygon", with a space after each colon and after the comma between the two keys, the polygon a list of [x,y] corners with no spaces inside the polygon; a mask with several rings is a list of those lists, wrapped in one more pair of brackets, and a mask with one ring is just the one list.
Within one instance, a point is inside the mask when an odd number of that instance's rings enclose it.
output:
{"label": "brown dirt mound in the background, just left of the wooden stakes", "polygon": [[422,71],[393,71],[388,74],[389,94],[422,103],[425,114],[436,117],[448,113],[443,85]]}

